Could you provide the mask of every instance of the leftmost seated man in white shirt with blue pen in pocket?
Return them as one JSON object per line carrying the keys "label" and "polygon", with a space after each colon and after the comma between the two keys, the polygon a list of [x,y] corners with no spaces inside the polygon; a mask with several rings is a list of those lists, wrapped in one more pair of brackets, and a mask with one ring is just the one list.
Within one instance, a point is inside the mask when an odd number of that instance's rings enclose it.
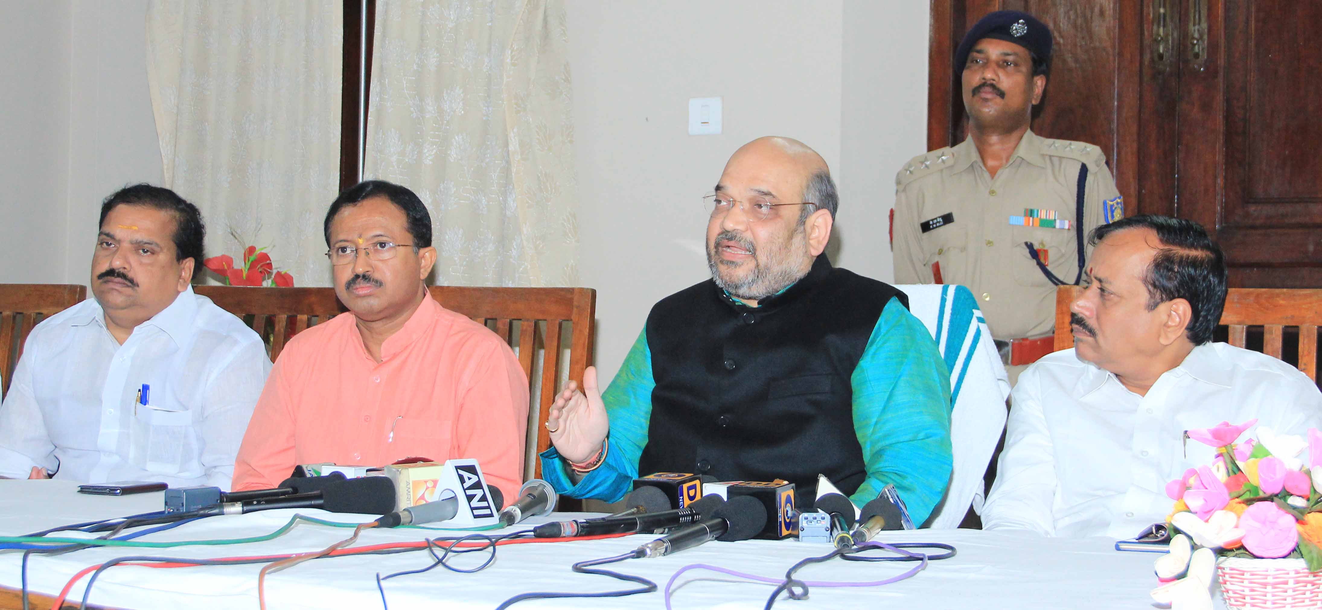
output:
{"label": "leftmost seated man in white shirt with blue pen in pocket", "polygon": [[169,189],[106,198],[94,298],[32,330],[0,405],[0,477],[229,490],[271,360],[193,293],[202,236],[201,213]]}

